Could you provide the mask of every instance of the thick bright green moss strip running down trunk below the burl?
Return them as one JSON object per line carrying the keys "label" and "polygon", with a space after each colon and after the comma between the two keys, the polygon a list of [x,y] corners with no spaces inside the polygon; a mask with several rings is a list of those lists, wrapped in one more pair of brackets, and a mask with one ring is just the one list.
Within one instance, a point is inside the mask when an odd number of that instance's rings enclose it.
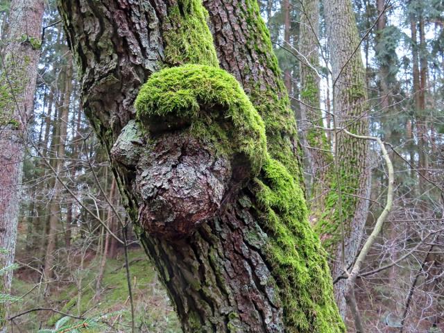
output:
{"label": "thick bright green moss strip running down trunk below the burl", "polygon": [[298,180],[269,158],[256,183],[264,228],[273,235],[266,252],[280,286],[287,332],[344,332],[325,251],[310,228]]}

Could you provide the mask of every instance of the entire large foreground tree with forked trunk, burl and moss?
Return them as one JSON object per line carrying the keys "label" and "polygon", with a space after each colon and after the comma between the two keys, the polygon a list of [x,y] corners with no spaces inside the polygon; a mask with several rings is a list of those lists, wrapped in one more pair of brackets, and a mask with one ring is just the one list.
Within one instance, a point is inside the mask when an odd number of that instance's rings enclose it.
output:
{"label": "entire large foreground tree with forked trunk, burl and moss", "polygon": [[83,107],[184,332],[343,332],[257,3],[58,6]]}

